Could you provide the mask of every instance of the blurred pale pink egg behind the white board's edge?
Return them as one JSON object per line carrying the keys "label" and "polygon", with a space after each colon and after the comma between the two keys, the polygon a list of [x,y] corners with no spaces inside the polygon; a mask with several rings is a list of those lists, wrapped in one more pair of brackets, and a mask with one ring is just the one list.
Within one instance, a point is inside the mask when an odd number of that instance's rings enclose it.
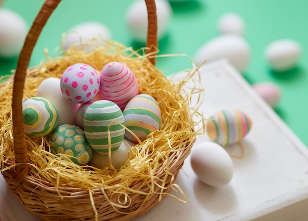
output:
{"label": "blurred pale pink egg behind the white board's edge", "polygon": [[281,97],[280,88],[270,82],[260,82],[252,85],[253,90],[272,108],[277,106]]}

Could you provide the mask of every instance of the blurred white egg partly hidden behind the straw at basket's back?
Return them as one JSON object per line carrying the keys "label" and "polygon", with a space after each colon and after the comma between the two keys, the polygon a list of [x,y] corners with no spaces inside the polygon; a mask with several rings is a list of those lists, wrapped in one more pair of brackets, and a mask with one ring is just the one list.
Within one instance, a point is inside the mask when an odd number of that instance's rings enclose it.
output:
{"label": "blurred white egg partly hidden behind the straw at basket's back", "polygon": [[[64,48],[68,49],[73,44],[83,44],[89,43],[89,41],[93,40],[93,47],[96,45],[98,41],[98,46],[104,44],[103,39],[110,40],[111,39],[111,31],[107,26],[99,22],[84,22],[72,27],[66,37],[64,39]],[[85,50],[92,50],[91,43],[89,46],[85,47]],[[78,46],[80,49],[81,46]]]}

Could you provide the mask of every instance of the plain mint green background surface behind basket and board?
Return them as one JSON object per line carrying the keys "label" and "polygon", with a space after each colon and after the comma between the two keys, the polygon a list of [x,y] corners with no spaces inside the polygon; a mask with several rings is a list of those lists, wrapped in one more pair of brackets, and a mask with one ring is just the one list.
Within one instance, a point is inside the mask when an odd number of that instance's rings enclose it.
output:
{"label": "plain mint green background surface behind basket and board", "polygon": [[[29,26],[44,0],[3,0],[2,7],[23,16]],[[44,48],[52,54],[62,40],[62,34],[84,21],[99,21],[109,27],[112,39],[126,46],[139,48],[125,23],[125,14],[133,0],[62,0],[47,22],[31,57],[30,67],[45,57]],[[262,81],[276,83],[282,97],[277,113],[308,146],[308,1],[307,0],[187,0],[171,2],[173,15],[166,37],[159,42],[159,54],[186,54],[194,57],[198,48],[218,36],[217,20],[226,12],[238,13],[245,21],[244,37],[251,47],[251,59],[244,73],[253,84]],[[274,40],[291,38],[303,47],[298,66],[285,73],[271,71],[264,59],[266,46]],[[15,69],[17,58],[0,60],[0,74]],[[165,75],[191,67],[187,57],[157,59],[157,67]],[[275,138],[273,138],[275,139]]]}

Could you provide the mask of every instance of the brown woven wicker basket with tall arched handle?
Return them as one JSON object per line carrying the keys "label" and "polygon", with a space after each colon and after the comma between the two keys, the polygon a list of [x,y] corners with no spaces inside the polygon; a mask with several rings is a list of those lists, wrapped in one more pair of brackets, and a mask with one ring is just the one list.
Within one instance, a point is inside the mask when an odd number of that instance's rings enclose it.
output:
{"label": "brown woven wicker basket with tall arched handle", "polygon": [[[147,48],[149,50],[146,53],[153,55],[157,46],[156,8],[154,0],[145,1],[149,17],[147,38]],[[31,154],[36,151],[36,148],[41,148],[42,146],[43,149],[48,149],[46,147],[48,142],[43,138],[29,138],[24,134],[22,101],[25,99],[23,95],[25,81],[29,78],[39,78],[42,72],[40,66],[27,70],[33,47],[46,21],[59,2],[60,0],[46,0],[26,38],[18,60],[14,80],[12,79],[7,84],[1,85],[1,99],[3,100],[4,96],[5,99],[11,99],[10,101],[12,102],[12,107],[6,107],[9,109],[8,113],[1,116],[0,119],[2,133],[0,141],[1,173],[12,192],[26,209],[43,220],[127,221],[134,219],[154,207],[173,188],[176,176],[185,158],[190,153],[196,136],[193,131],[190,110],[188,105],[179,105],[178,107],[170,108],[168,113],[162,113],[162,117],[172,117],[174,114],[178,114],[177,117],[180,120],[185,121],[185,119],[188,119],[184,124],[189,132],[187,130],[181,132],[183,133],[181,137],[185,137],[185,139],[177,140],[178,138],[172,139],[173,132],[178,130],[176,122],[174,122],[172,129],[161,129],[161,133],[169,136],[165,139],[165,143],[168,143],[167,148],[173,149],[169,151],[169,155],[165,156],[165,158],[159,156],[159,163],[155,165],[151,174],[147,174],[152,179],[149,178],[148,180],[143,180],[143,182],[133,181],[129,184],[129,189],[136,191],[129,191],[128,189],[128,192],[122,194],[117,190],[117,184],[112,184],[113,186],[111,185],[110,188],[104,189],[102,184],[96,183],[91,186],[74,187],[65,186],[61,184],[61,181],[49,182],[44,180],[44,177],[47,176],[44,173],[48,172],[38,170],[40,168],[37,168],[39,166],[36,165],[36,162],[31,161]],[[151,59],[148,59],[147,56],[143,56],[144,65],[155,69],[154,57],[152,56]],[[157,73],[159,75],[160,72],[157,70]],[[170,83],[169,80],[163,77],[163,74],[160,74],[159,77],[164,82]],[[139,78],[142,78],[142,75]],[[154,77],[150,77],[149,81],[150,83],[155,82]],[[168,86],[169,89],[172,87]],[[12,90],[12,96],[10,98],[5,97],[5,93],[10,90]],[[168,91],[166,91],[166,94],[168,94]],[[183,103],[184,100],[181,95],[174,99],[179,99],[176,103]],[[168,105],[165,104],[167,102],[158,103],[159,105]],[[144,143],[151,146],[151,139],[147,139]],[[6,144],[9,148],[4,148],[3,144]],[[29,144],[32,144],[31,149]],[[149,159],[154,157],[155,148],[152,151],[151,155],[148,156]],[[127,167],[129,169],[129,165],[126,166],[126,169]],[[72,171],[72,174],[74,174],[74,168],[67,170]],[[82,172],[89,173],[91,171],[87,167],[82,167],[82,170],[78,169],[76,176],[80,177]],[[95,171],[92,176],[99,180],[102,175],[99,174],[99,171]],[[125,201],[127,198],[129,198],[129,206],[117,207],[119,201]]]}

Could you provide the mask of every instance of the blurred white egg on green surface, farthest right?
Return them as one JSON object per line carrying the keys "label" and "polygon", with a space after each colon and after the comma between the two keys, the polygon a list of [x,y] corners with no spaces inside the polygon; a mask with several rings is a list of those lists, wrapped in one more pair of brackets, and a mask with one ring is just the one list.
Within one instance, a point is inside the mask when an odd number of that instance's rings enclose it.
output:
{"label": "blurred white egg on green surface, farthest right", "polygon": [[265,58],[274,71],[283,72],[294,68],[302,54],[301,45],[292,39],[270,43],[265,49]]}

